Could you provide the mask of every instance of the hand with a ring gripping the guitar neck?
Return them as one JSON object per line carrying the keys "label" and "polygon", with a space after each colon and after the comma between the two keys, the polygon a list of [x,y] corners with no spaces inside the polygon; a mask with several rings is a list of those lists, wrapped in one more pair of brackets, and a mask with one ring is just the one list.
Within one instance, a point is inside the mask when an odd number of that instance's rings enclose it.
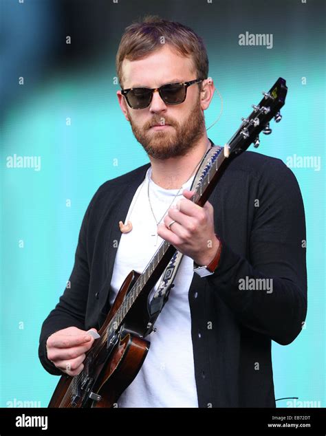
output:
{"label": "hand with a ring gripping the guitar neck", "polygon": [[[183,191],[185,198],[177,202],[177,207],[169,208],[164,222],[157,226],[157,234],[198,265],[208,265],[219,249],[214,230],[214,209],[208,201],[204,207],[193,203],[190,198],[194,193],[194,190]],[[175,223],[169,229],[173,220]]]}

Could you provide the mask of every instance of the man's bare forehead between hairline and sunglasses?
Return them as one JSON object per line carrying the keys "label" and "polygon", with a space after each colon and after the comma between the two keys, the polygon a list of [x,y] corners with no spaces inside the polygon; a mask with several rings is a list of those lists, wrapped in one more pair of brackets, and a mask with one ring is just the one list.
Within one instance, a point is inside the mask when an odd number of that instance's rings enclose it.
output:
{"label": "man's bare forehead between hairline and sunglasses", "polygon": [[164,45],[146,58],[136,61],[124,59],[122,76],[125,89],[138,86],[154,88],[169,82],[192,80],[195,78],[195,68],[192,58],[181,56]]}

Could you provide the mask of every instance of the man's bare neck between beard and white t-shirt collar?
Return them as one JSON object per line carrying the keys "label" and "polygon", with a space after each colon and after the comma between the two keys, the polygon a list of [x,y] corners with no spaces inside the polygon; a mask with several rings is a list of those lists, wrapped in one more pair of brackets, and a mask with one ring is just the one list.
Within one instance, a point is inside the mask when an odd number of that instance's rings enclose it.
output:
{"label": "man's bare neck between beard and white t-shirt collar", "polygon": [[197,166],[208,150],[210,141],[205,135],[183,156],[159,160],[149,156],[151,179],[164,189],[179,189],[197,171]]}

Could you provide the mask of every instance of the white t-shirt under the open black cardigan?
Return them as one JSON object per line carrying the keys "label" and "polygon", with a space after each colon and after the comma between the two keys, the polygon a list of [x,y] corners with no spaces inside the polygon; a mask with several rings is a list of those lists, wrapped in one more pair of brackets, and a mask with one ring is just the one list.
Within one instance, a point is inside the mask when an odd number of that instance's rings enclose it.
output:
{"label": "white t-shirt under the open black cardigan", "polygon": [[[191,188],[193,177],[182,186],[173,204],[182,198],[184,189]],[[163,241],[156,236],[157,224],[149,206],[148,184],[151,205],[157,221],[166,215],[166,210],[178,191],[164,189],[155,184],[151,180],[149,167],[144,182],[138,187],[131,201],[125,220],[126,223],[128,220],[131,221],[133,229],[121,235],[111,280],[111,304],[129,272],[142,272]],[[198,407],[188,302],[188,290],[192,279],[193,259],[184,256],[169,301],[164,305],[155,323],[157,331],[146,337],[151,342],[149,353],[138,375],[120,396],[119,407]],[[159,283],[160,280],[157,281],[151,296]]]}

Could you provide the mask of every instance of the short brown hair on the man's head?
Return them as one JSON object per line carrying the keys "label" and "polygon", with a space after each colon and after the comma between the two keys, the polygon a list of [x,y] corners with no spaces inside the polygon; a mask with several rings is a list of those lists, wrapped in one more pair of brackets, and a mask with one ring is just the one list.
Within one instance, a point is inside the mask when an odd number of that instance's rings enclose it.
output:
{"label": "short brown hair on the man's head", "polygon": [[162,48],[162,41],[182,56],[191,56],[197,78],[208,76],[208,56],[202,39],[191,28],[176,21],[148,15],[141,22],[132,23],[125,30],[116,55],[116,70],[122,87],[122,61],[144,58]]}

